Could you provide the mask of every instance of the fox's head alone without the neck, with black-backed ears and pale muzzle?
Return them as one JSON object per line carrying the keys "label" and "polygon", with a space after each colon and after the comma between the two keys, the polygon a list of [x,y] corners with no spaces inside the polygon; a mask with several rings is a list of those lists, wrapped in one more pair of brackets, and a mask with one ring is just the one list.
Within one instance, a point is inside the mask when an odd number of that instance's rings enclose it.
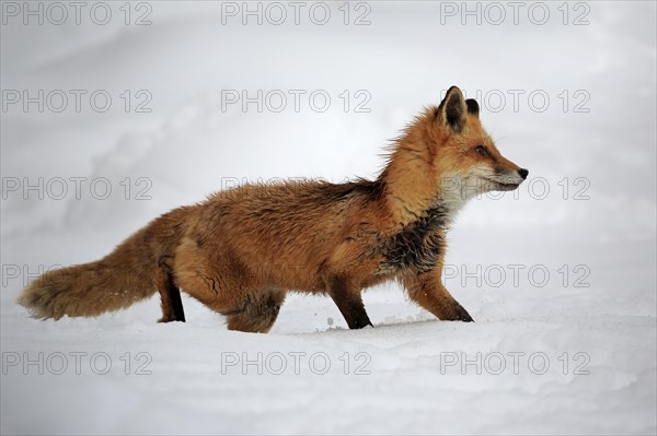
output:
{"label": "fox's head alone without the neck, with black-backed ears and pale muzzle", "polygon": [[488,191],[518,188],[529,170],[504,157],[480,121],[480,107],[452,86],[438,107],[430,108],[428,138],[433,166],[442,191],[458,190],[462,199]]}

